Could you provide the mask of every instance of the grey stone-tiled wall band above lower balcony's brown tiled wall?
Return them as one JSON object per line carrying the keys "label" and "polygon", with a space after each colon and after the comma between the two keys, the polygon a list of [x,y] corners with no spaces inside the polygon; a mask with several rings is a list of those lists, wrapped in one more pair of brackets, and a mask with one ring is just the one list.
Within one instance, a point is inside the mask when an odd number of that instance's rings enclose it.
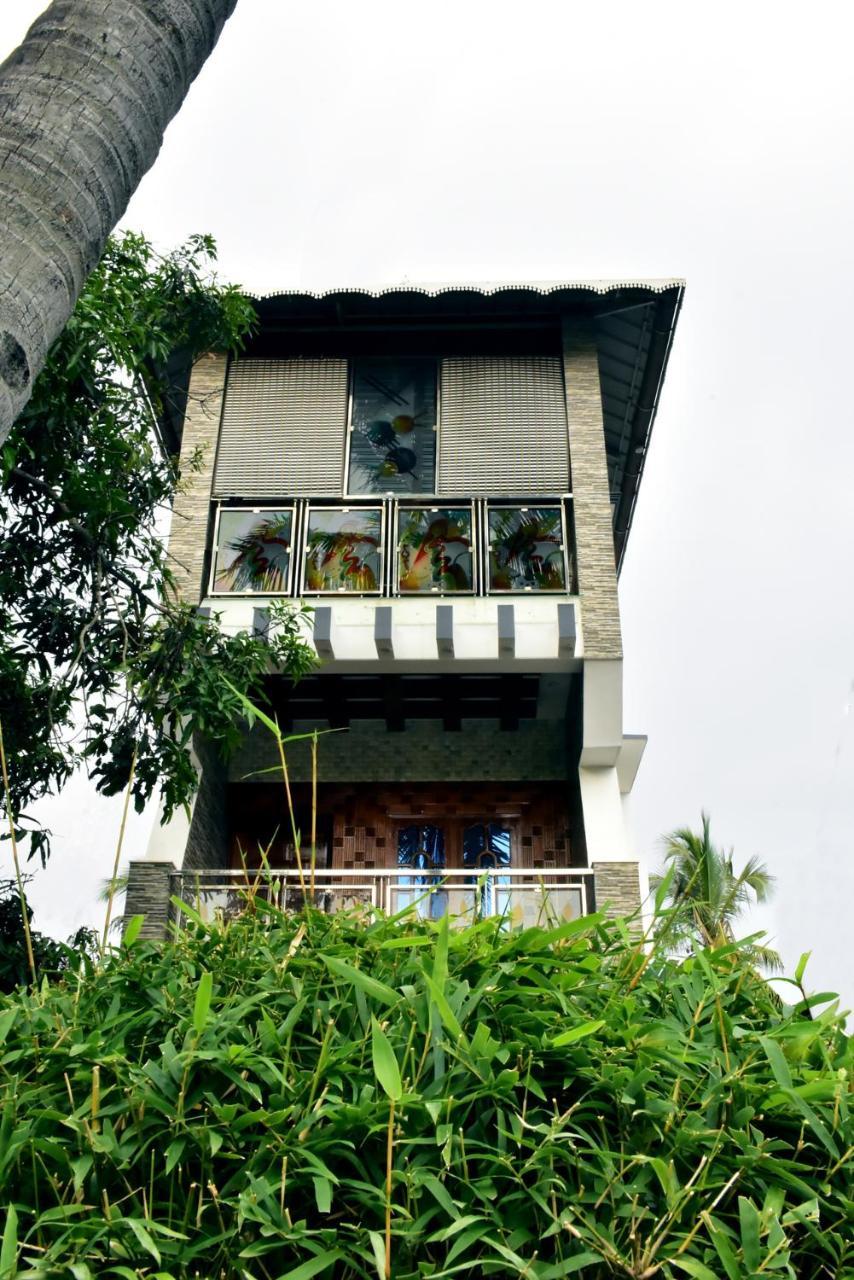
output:
{"label": "grey stone-tiled wall band above lower balcony's brown tiled wall", "polygon": [[[320,737],[318,777],[321,782],[562,782],[570,774],[566,732],[562,721],[522,721],[513,732],[483,721],[463,721],[457,732],[446,732],[435,721],[411,721],[402,733],[374,721],[355,721],[344,732]],[[311,778],[307,741],[291,746],[287,759],[292,781]],[[238,782],[277,765],[273,739],[256,726],[228,772]]]}

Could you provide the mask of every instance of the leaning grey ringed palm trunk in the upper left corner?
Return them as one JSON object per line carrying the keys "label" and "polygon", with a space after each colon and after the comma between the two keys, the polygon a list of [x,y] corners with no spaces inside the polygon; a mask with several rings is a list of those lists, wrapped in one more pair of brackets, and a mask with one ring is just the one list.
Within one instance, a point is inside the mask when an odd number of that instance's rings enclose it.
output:
{"label": "leaning grey ringed palm trunk in the upper left corner", "polygon": [[55,0],[0,67],[0,444],[237,0]]}

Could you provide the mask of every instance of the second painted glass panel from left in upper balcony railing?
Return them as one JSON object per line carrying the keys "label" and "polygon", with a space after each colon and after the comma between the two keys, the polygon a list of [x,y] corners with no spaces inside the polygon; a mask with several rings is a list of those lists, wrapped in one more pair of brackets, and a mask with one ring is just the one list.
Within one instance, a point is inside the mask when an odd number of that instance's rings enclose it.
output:
{"label": "second painted glass panel from left in upper balcony railing", "polygon": [[307,591],[379,591],[383,513],[379,507],[309,511]]}

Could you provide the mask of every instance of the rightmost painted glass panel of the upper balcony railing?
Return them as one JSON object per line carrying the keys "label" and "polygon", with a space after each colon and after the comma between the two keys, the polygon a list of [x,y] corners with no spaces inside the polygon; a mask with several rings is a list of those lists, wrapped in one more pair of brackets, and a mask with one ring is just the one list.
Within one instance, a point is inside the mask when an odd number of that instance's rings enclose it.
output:
{"label": "rightmost painted glass panel of the upper balcony railing", "polygon": [[489,509],[490,591],[565,591],[560,507]]}

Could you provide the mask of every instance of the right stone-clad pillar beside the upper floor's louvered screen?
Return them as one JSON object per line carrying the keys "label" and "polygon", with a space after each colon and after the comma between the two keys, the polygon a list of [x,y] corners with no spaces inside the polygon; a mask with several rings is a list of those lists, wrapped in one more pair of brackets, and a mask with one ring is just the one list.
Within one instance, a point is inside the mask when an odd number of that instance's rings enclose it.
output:
{"label": "right stone-clad pillar beside the upper floor's louvered screen", "polygon": [[585,658],[620,658],[620,607],[602,419],[599,357],[583,325],[563,325],[572,511]]}

